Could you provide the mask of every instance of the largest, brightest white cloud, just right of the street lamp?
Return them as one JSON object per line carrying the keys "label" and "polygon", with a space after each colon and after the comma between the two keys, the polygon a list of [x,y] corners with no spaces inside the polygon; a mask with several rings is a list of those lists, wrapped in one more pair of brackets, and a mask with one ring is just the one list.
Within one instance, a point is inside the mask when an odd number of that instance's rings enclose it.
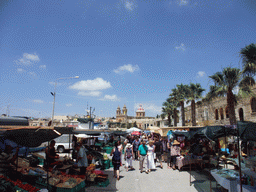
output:
{"label": "largest, brightest white cloud, just right of the street lamp", "polygon": [[70,89],[76,89],[80,91],[97,91],[111,88],[110,82],[103,80],[102,78],[96,78],[94,80],[79,81],[70,86]]}

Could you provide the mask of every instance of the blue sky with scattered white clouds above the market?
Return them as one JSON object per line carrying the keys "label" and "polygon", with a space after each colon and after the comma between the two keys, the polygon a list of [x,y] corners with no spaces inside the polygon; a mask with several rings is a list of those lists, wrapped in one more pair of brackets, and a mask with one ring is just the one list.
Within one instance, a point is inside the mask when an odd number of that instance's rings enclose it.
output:
{"label": "blue sky with scattered white clouds above the market", "polygon": [[146,116],[176,84],[201,83],[255,43],[256,3],[235,0],[1,1],[0,113]]}

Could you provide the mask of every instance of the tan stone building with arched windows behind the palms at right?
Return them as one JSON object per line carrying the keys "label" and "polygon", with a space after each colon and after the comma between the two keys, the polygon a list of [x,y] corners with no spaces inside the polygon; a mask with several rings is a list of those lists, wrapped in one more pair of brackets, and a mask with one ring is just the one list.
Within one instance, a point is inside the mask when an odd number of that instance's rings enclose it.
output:
{"label": "tan stone building with arched windows behind the palms at right", "polygon": [[[253,89],[256,93],[256,87]],[[256,96],[238,98],[235,105],[237,121],[256,122]],[[186,125],[191,126],[191,106],[185,109]],[[229,112],[226,97],[217,98],[211,102],[196,103],[196,122],[197,125],[229,125]]]}

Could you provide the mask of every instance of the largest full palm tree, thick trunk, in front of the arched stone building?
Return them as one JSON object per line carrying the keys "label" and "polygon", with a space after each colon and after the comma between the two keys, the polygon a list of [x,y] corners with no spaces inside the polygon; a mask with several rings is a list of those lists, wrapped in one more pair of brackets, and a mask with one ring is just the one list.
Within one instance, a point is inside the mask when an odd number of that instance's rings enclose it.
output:
{"label": "largest full palm tree, thick trunk, in front of the arched stone building", "polygon": [[230,125],[235,125],[236,96],[234,95],[233,90],[239,86],[239,93],[251,93],[249,86],[255,83],[254,79],[248,77],[242,78],[240,69],[231,67],[224,68],[222,72],[217,72],[210,76],[210,78],[215,85],[210,87],[210,92],[207,94],[206,98],[213,99],[219,96],[227,96]]}

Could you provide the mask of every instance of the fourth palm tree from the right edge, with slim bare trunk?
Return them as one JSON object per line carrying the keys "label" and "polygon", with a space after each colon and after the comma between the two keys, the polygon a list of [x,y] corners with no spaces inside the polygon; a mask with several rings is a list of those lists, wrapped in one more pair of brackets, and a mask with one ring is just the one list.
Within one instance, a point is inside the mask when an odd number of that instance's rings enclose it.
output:
{"label": "fourth palm tree from the right edge, with slim bare trunk", "polygon": [[181,118],[182,118],[182,126],[185,126],[185,107],[184,102],[187,99],[189,87],[188,85],[176,85],[177,88],[172,89],[171,97],[174,97],[178,102],[181,108]]}

